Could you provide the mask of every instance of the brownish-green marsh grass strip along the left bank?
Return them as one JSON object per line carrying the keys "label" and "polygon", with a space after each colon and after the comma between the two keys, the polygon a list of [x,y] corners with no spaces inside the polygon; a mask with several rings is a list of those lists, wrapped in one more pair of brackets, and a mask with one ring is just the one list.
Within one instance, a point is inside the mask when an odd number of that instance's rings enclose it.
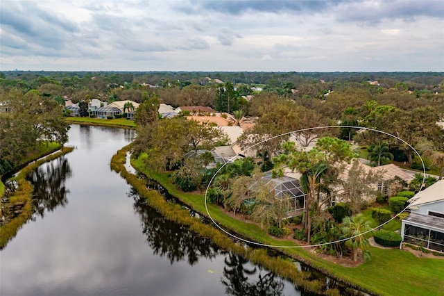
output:
{"label": "brownish-green marsh grass strip along the left bank", "polygon": [[[21,213],[18,213],[18,215],[13,217],[8,223],[0,226],[0,249],[6,247],[8,242],[16,236],[17,231],[33,215],[33,186],[26,181],[26,174],[35,170],[35,168],[42,165],[42,163],[53,161],[73,150],[74,147],[51,144],[47,146],[45,145],[43,149],[40,149],[40,151],[35,154],[29,155],[22,161],[22,165],[19,165],[19,167],[22,167],[23,165],[24,167],[19,171],[19,174],[13,178],[17,181],[18,187],[16,192],[9,198],[8,203],[11,205],[18,205]],[[1,183],[0,186],[3,188],[0,196],[3,197],[4,184]]]}

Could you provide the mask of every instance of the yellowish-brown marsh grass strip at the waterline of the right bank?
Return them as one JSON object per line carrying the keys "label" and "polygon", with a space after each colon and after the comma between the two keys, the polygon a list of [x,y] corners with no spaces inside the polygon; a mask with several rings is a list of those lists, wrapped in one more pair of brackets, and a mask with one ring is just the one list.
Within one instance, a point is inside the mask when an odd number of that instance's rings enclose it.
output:
{"label": "yellowish-brown marsh grass strip at the waterline of the right bank", "polygon": [[[291,258],[287,256],[269,256],[267,254],[267,249],[264,248],[255,249],[252,247],[244,247],[244,244],[239,244],[238,242],[235,242],[234,240],[232,240],[232,238],[226,236],[225,233],[221,233],[219,229],[213,227],[212,224],[205,224],[199,218],[191,217],[189,215],[189,211],[186,208],[183,208],[180,204],[167,202],[167,200],[164,199],[164,197],[162,197],[162,195],[160,195],[160,193],[158,193],[157,191],[148,190],[146,188],[146,182],[144,180],[139,179],[135,174],[131,174],[125,169],[124,165],[126,163],[126,153],[129,147],[130,145],[123,147],[122,149],[117,151],[117,154],[112,157],[110,167],[112,170],[119,173],[121,177],[123,177],[123,179],[126,179],[127,183],[133,186],[137,190],[139,195],[146,199],[146,202],[149,206],[155,208],[159,213],[164,215],[164,217],[174,222],[187,225],[191,231],[194,231],[195,233],[198,233],[200,236],[203,236],[205,238],[209,238],[215,245],[221,247],[221,249],[228,249],[236,254],[244,256],[251,262],[262,265],[268,270],[279,274],[281,277],[289,279],[290,281],[295,283],[296,286],[302,288],[307,292],[317,293],[319,295],[341,295],[340,291],[337,288],[330,288],[329,290],[325,290],[324,283],[322,281],[310,280],[309,277],[311,273],[298,270],[298,267],[295,265]],[[143,164],[142,162],[143,161],[141,159],[132,159],[131,161],[137,171],[145,174],[146,176],[153,176],[153,172],[148,172],[144,170],[144,168],[141,166],[141,164]],[[157,177],[160,177],[160,175],[157,175]],[[160,183],[162,184],[162,186],[164,185],[162,181],[160,181]],[[170,194],[174,195],[185,204],[188,204],[187,202],[182,200],[180,196],[177,195],[177,192],[171,192],[172,190],[170,189],[171,188],[167,188]],[[187,194],[187,196],[187,199],[189,200],[195,195]],[[202,196],[200,195],[200,197]],[[196,209],[194,206],[190,206]],[[210,208],[212,208],[212,210],[214,211],[216,211],[217,209],[217,207],[211,205]],[[201,208],[198,212],[203,215],[205,213],[205,211],[201,211]],[[219,215],[223,215],[223,213],[219,213]],[[225,217],[228,218],[227,222],[234,223],[231,225],[232,227],[234,227],[234,225],[237,223],[241,223],[239,220],[235,220],[232,218],[230,219],[228,216]],[[252,227],[252,229],[248,230],[245,235],[248,235],[248,233],[257,232],[259,233],[259,235],[263,236],[263,238],[266,237],[264,236],[264,232],[259,229],[257,225],[248,224],[247,228],[248,227]],[[269,241],[269,243],[273,242],[278,243],[278,240],[272,239]]]}

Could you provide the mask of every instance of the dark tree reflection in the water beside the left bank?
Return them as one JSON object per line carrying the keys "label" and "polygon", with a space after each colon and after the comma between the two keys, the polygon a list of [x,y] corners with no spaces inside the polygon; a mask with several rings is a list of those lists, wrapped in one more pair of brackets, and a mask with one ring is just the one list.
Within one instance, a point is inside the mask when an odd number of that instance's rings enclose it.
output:
{"label": "dark tree reflection in the water beside the left bank", "polygon": [[44,217],[45,211],[54,211],[58,206],[68,204],[65,181],[71,176],[71,167],[64,156],[46,165],[40,165],[28,174],[26,179],[34,186],[34,214]]}

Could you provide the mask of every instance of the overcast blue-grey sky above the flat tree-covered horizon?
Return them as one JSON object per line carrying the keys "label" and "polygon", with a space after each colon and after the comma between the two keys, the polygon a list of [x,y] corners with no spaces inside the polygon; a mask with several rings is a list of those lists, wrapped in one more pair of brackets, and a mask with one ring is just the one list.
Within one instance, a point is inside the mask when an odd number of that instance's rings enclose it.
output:
{"label": "overcast blue-grey sky above the flat tree-covered horizon", "polygon": [[0,69],[443,72],[444,1],[1,0]]}

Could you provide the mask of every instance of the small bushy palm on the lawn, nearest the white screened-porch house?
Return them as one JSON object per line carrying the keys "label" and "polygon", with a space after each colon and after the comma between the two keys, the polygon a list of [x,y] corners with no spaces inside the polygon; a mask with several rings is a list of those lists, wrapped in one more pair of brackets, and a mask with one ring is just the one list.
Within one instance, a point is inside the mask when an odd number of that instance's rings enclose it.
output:
{"label": "small bushy palm on the lawn, nearest the white screened-porch house", "polygon": [[364,220],[362,215],[355,217],[344,217],[342,220],[342,232],[345,238],[345,245],[352,249],[353,261],[358,260],[358,251],[362,250],[364,258],[370,256],[367,247],[370,245],[368,239],[364,236],[364,233],[371,229],[370,222]]}

